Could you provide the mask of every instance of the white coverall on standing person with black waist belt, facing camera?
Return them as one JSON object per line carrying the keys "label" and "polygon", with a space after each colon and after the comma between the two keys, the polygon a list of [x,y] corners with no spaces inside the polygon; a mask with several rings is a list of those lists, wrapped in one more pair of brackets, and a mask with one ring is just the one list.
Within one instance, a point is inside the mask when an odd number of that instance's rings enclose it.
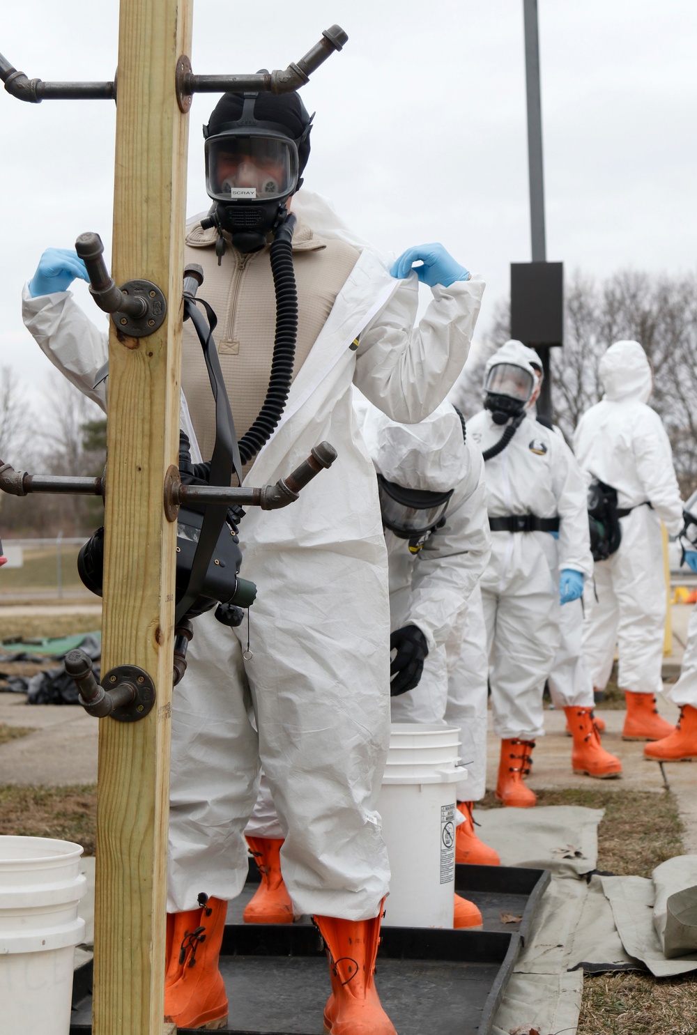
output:
{"label": "white coverall on standing person with black waist belt, facing camera", "polygon": [[[534,372],[529,350],[509,342],[489,359]],[[488,410],[467,422],[482,451],[503,434]],[[494,731],[501,739],[544,736],[543,688],[559,645],[559,581],[572,568],[589,575],[586,487],[560,435],[526,414],[509,445],[485,465],[489,516],[559,516],[549,532],[492,532],[491,561],[482,578]]]}

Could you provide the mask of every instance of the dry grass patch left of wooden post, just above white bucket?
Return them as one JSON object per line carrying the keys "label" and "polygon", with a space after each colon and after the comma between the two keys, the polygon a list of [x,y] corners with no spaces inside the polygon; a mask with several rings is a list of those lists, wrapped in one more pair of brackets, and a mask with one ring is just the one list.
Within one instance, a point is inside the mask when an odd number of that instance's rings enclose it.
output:
{"label": "dry grass patch left of wooden post, just above white bucket", "polygon": [[0,787],[0,834],[57,837],[94,855],[96,788]]}

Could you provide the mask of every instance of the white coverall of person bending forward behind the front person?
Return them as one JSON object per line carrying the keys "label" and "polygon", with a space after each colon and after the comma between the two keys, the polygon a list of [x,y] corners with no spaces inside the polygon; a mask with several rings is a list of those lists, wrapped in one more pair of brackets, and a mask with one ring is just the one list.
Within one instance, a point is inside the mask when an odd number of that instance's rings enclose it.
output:
{"label": "white coverall of person bending forward behind the front person", "polygon": [[469,712],[457,693],[449,700],[445,645],[454,632],[462,637],[469,599],[491,553],[482,453],[471,439],[463,441],[460,418],[449,403],[419,424],[397,424],[372,406],[364,414],[368,450],[387,481],[433,493],[454,490],[445,524],[430,533],[417,554],[409,551],[408,540],[385,529],[390,629],[416,625],[429,647],[418,685],[391,699],[391,718],[462,726],[467,752]]}

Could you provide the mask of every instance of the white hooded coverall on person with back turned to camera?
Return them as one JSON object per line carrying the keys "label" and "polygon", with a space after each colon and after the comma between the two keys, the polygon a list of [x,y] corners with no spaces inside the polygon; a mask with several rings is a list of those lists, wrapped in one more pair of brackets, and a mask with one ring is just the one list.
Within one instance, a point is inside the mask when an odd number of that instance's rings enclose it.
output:
{"label": "white hooded coverall on person with back turned to camera", "polygon": [[[683,525],[670,442],[661,418],[646,405],[651,369],[638,342],[616,342],[600,363],[603,400],[581,417],[574,451],[587,480],[617,491],[619,549],[594,565],[586,586],[583,652],[593,686],[603,689],[618,645],[622,690],[662,690],[666,581],[661,521],[669,534]],[[647,504],[650,503],[650,506]],[[598,599],[596,599],[598,596]]]}

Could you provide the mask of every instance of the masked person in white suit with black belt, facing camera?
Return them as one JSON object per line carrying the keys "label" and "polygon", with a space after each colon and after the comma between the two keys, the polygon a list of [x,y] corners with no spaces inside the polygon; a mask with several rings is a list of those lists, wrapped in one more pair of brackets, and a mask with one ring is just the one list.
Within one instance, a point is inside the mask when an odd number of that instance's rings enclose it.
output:
{"label": "masked person in white suit with black belt, facing camera", "polygon": [[[492,530],[482,599],[494,731],[501,738],[496,796],[516,807],[535,803],[524,777],[534,740],[544,735],[542,698],[559,644],[559,604],[581,595],[592,570],[584,479],[563,439],[528,412],[540,389],[530,359],[542,366],[520,342],[507,342],[489,359],[485,409],[467,423],[483,450]],[[573,758],[583,771],[590,751],[607,753],[589,716],[586,724],[588,750]]]}

